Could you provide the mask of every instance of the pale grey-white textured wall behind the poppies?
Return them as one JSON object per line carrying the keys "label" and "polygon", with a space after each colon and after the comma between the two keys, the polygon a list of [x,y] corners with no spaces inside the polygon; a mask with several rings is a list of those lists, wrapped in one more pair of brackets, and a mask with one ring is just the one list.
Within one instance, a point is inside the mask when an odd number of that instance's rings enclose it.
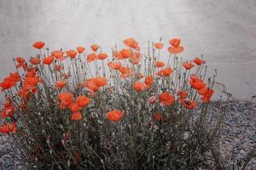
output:
{"label": "pale grey-white textured wall behind the poppies", "polygon": [[125,37],[180,37],[183,57],[204,54],[237,99],[256,94],[255,0],[1,0],[0,79],[13,71],[12,57],[36,53],[34,41],[107,50]]}

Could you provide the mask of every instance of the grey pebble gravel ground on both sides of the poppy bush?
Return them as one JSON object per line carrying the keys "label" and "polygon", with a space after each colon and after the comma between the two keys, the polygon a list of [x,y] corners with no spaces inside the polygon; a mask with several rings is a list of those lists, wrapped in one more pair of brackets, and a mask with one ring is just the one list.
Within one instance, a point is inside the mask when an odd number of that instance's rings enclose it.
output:
{"label": "grey pebble gravel ground on both sides of the poppy bush", "polygon": [[[231,111],[221,133],[220,150],[232,164],[239,163],[247,153],[256,150],[256,104],[249,102],[234,102],[230,104]],[[0,169],[22,169],[17,151],[12,151],[9,137],[0,134]],[[234,156],[236,155],[236,156]],[[256,169],[256,157],[248,163],[246,170]]]}

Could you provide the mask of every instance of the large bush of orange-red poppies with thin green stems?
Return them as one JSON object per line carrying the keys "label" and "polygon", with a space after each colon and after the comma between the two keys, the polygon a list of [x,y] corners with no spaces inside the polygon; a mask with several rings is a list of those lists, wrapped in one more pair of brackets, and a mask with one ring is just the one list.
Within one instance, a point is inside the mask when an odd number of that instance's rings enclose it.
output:
{"label": "large bush of orange-red poppies with thin green stems", "polygon": [[[127,38],[112,54],[88,49],[14,59],[3,79],[0,132],[11,135],[27,169],[224,168],[218,151],[226,107],[212,115],[216,74],[202,57],[184,60],[180,39]],[[167,62],[165,62],[167,61]]]}

